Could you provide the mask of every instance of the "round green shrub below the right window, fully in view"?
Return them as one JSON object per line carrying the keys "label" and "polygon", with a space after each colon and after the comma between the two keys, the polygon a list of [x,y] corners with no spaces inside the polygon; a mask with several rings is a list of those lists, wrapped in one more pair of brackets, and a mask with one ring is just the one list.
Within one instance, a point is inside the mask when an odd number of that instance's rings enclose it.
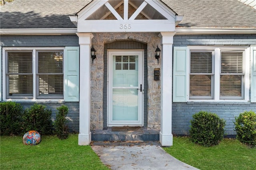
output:
{"label": "round green shrub below the right window, fully in view", "polygon": [[202,146],[219,144],[224,136],[226,122],[218,115],[200,111],[192,116],[190,138],[192,142]]}

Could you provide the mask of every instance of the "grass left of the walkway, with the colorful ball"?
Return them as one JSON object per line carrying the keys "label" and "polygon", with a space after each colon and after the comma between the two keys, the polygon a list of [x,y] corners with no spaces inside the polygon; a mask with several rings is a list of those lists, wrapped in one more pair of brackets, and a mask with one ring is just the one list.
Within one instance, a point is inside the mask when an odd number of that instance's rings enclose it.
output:
{"label": "grass left of the walkway, with the colorful ball", "polygon": [[66,140],[42,136],[36,146],[22,143],[22,136],[0,137],[0,169],[109,170],[90,146],[78,146],[78,135]]}

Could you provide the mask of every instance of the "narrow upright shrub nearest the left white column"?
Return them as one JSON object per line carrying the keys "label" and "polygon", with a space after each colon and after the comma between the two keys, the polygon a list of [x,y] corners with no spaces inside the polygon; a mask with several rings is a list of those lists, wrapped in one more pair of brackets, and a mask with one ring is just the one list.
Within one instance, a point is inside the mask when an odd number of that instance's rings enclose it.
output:
{"label": "narrow upright shrub nearest the left white column", "polygon": [[55,133],[59,139],[66,139],[68,138],[68,126],[66,123],[68,120],[66,116],[68,114],[68,107],[62,105],[57,108],[58,113],[56,115],[56,120],[54,121]]}

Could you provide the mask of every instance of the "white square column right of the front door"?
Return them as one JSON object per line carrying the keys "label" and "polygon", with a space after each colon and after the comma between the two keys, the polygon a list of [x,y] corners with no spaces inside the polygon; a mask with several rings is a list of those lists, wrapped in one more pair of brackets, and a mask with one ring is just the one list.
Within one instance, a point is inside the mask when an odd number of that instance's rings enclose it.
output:
{"label": "white square column right of the front door", "polygon": [[174,32],[161,32],[161,127],[160,143],[172,146],[172,43]]}

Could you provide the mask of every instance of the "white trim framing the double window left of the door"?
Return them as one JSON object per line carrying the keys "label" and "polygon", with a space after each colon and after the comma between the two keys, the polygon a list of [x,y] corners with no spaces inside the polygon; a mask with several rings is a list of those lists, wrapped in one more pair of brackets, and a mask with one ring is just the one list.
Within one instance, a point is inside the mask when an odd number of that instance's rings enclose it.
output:
{"label": "white trim framing the double window left of the door", "polygon": [[[6,51],[8,50],[32,50],[33,51],[33,99],[6,99]],[[36,50],[63,50],[63,55],[65,56],[65,47],[3,47],[2,51],[2,87],[3,87],[3,101],[64,101],[64,99],[36,99]],[[63,61],[64,65],[64,61]],[[64,70],[63,70],[64,75]],[[63,91],[64,92],[64,91]],[[64,94],[63,94],[64,96]]]}

